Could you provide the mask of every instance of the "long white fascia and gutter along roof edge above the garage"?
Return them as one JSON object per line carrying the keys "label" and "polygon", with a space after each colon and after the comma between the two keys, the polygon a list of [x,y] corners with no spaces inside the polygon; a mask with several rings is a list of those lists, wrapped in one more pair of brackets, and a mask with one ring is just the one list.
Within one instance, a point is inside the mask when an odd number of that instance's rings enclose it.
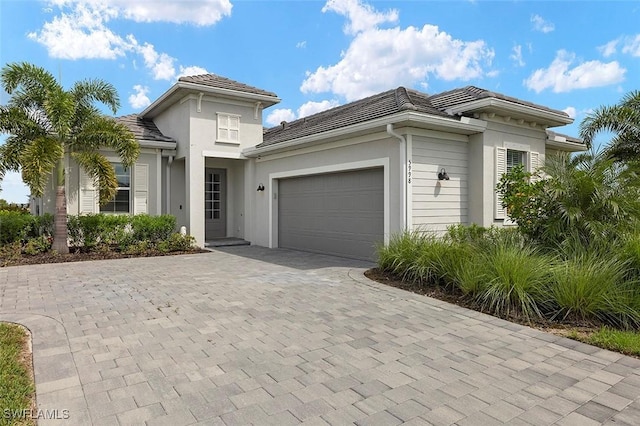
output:
{"label": "long white fascia and gutter along roof edge above the garage", "polygon": [[376,118],[374,120],[365,121],[363,123],[353,124],[347,127],[329,130],[322,133],[316,133],[309,136],[303,136],[297,139],[291,139],[285,142],[275,143],[262,148],[247,148],[242,151],[246,157],[252,158],[262,154],[268,154],[276,151],[284,151],[289,148],[299,147],[308,143],[318,142],[323,139],[345,136],[350,133],[360,132],[363,130],[375,129],[376,127],[386,127],[387,124],[397,124],[412,121],[424,125],[437,127],[445,127],[453,131],[453,133],[473,134],[482,133],[487,128],[487,122],[476,119],[453,120],[451,118],[427,115],[419,112],[402,112],[396,115]]}

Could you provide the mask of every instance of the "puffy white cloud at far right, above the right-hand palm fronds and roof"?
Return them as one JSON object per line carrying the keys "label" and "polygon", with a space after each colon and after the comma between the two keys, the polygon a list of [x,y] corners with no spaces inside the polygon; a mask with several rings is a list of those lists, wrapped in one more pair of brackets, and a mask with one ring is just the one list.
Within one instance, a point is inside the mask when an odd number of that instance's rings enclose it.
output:
{"label": "puffy white cloud at far right, above the right-hand palm fronds and roof", "polygon": [[574,54],[560,50],[548,68],[534,71],[524,84],[537,93],[545,89],[551,89],[556,93],[570,92],[575,89],[619,83],[624,80],[627,71],[617,61],[588,61],[570,68],[574,62]]}

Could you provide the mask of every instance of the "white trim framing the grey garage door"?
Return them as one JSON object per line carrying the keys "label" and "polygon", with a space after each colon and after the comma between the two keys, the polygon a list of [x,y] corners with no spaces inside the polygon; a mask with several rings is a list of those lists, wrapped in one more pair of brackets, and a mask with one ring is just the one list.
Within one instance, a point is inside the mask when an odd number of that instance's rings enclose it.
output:
{"label": "white trim framing the grey garage door", "polygon": [[391,218],[389,205],[389,157],[375,158],[371,160],[354,161],[351,163],[332,164],[328,166],[310,167],[306,169],[288,170],[285,172],[269,173],[269,248],[278,247],[278,227],[275,219],[278,217],[278,203],[274,200],[278,199],[278,179],[318,175],[325,173],[336,173],[350,170],[370,169],[373,167],[382,167],[384,174],[384,244],[389,244],[389,230]]}

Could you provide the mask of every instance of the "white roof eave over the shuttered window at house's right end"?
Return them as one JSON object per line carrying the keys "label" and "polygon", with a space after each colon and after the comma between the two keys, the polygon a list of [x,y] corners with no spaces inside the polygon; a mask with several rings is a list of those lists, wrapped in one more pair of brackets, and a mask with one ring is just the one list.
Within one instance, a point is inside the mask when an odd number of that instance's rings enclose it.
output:
{"label": "white roof eave over the shuttered window at house's right end", "polygon": [[453,106],[446,110],[449,114],[499,111],[505,116],[526,116],[549,127],[573,123],[573,119],[562,112],[546,111],[529,105],[522,105],[504,99],[485,98]]}

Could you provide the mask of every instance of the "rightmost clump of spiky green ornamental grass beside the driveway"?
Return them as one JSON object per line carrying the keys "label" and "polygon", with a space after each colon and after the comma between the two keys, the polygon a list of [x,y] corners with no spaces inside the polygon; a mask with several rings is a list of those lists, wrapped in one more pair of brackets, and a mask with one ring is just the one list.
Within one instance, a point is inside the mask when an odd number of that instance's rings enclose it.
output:
{"label": "rightmost clump of spiky green ornamental grass beside the driveway", "polygon": [[[553,318],[602,321],[616,326],[640,324],[638,288],[625,281],[629,265],[615,257],[585,255],[553,269],[549,295]],[[639,306],[640,307],[640,306]]]}

